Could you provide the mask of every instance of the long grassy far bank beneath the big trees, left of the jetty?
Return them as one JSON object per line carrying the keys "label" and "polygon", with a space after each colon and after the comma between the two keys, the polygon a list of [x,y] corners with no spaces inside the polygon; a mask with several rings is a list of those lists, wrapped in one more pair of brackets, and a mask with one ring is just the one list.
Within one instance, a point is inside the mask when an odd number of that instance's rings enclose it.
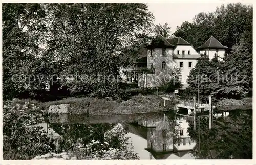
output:
{"label": "long grassy far bank beneath the big trees, left of the jetty", "polygon": [[127,101],[111,101],[92,97],[69,97],[51,102],[39,102],[30,99],[15,99],[13,104],[30,102],[43,110],[48,110],[50,105],[70,104],[68,112],[71,114],[131,114],[164,111],[164,100],[156,95],[135,95]]}

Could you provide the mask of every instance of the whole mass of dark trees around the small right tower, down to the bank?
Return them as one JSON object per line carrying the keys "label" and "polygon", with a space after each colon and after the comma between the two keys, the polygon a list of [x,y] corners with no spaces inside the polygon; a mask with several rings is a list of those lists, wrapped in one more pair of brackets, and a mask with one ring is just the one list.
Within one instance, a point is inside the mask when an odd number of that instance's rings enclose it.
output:
{"label": "whole mass of dark trees around the small right tower, down to the bank", "polygon": [[228,46],[223,62],[218,58],[208,61],[204,55],[198,59],[196,68],[188,76],[187,92],[197,95],[199,79],[202,100],[206,101],[208,95],[216,99],[247,96],[252,88],[252,6],[228,4],[212,13],[200,13],[193,22],[184,22],[178,27],[174,35],[195,47],[210,36]]}

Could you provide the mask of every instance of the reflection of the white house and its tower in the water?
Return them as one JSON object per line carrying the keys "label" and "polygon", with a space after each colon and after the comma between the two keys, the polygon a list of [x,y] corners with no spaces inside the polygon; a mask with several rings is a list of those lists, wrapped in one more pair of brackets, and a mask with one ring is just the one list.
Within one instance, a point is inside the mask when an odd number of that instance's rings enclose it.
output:
{"label": "reflection of the white house and its tower in the water", "polygon": [[150,156],[152,154],[155,159],[166,159],[171,154],[182,157],[196,146],[196,142],[188,135],[188,122],[184,118],[174,122],[164,116],[138,122],[140,126],[147,128],[146,150],[150,152]]}

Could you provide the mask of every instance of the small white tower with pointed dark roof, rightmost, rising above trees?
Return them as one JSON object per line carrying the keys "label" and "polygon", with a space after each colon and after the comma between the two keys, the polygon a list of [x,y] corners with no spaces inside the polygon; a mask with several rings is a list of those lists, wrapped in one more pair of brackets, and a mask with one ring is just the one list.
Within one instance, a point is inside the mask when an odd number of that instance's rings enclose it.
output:
{"label": "small white tower with pointed dark roof, rightmost, rising above trees", "polygon": [[215,37],[211,36],[197,49],[200,54],[206,54],[210,60],[216,55],[219,60],[222,60],[225,54],[225,49],[227,48],[227,46],[223,46]]}

